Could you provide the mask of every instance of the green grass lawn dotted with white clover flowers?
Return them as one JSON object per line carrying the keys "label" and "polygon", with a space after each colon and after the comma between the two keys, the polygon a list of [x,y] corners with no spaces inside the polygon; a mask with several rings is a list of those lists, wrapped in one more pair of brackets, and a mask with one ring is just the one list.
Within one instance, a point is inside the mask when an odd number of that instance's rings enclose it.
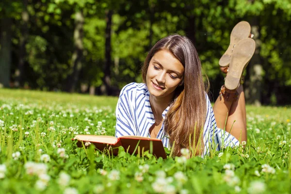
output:
{"label": "green grass lawn dotted with white clover flowers", "polygon": [[290,193],[289,107],[247,106],[247,145],[203,159],[77,148],[74,133],[114,135],[116,102],[0,89],[1,193]]}

